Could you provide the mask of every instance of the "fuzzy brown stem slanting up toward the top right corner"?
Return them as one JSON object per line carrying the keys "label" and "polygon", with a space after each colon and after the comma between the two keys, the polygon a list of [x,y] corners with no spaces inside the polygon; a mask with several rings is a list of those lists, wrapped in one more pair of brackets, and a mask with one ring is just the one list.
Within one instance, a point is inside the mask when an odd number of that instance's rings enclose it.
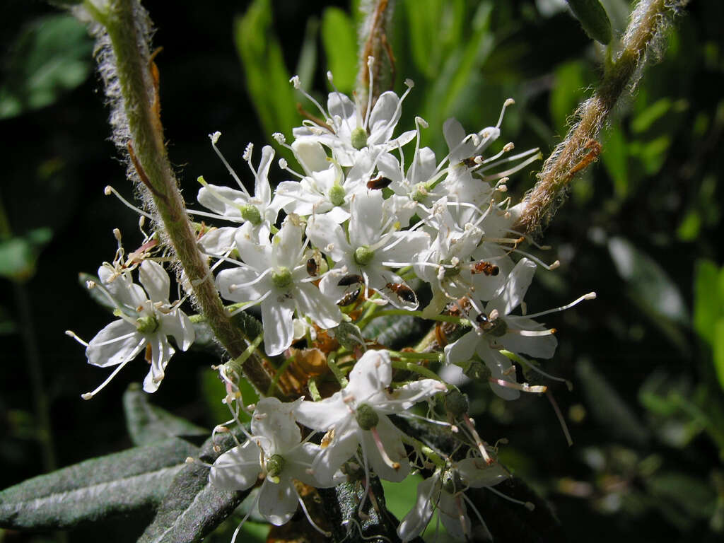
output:
{"label": "fuzzy brown stem slanting up toward the top right corner", "polygon": [[605,70],[594,95],[576,110],[577,122],[544,162],[538,182],[526,195],[525,208],[515,230],[536,235],[552,218],[563,201],[576,172],[597,157],[596,138],[605,126],[618,98],[639,77],[652,46],[678,8],[688,0],[641,0],[631,13],[622,49]]}

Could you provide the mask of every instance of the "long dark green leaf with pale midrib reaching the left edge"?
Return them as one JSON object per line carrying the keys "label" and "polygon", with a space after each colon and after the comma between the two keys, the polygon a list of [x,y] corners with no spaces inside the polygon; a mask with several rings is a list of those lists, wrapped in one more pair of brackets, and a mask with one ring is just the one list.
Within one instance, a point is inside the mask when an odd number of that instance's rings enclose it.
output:
{"label": "long dark green leaf with pale midrib reaching the left edge", "polygon": [[184,460],[197,452],[173,438],[28,479],[0,492],[0,526],[64,529],[156,508]]}

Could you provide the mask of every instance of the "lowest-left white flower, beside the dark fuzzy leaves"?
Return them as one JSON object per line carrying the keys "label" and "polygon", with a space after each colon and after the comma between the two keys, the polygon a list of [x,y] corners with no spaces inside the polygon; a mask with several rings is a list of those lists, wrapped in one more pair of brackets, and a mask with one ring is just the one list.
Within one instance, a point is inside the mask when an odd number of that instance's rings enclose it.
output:
{"label": "lowest-left white flower, beside the dark fuzzy leaves", "polygon": [[326,481],[311,473],[319,445],[302,442],[294,411],[299,402],[282,403],[265,397],[256,404],[251,418],[252,437],[224,452],[209,473],[211,484],[224,490],[245,490],[264,477],[258,494],[258,508],[267,521],[281,526],[289,521],[300,500],[294,480],[312,487],[332,487],[337,474]]}

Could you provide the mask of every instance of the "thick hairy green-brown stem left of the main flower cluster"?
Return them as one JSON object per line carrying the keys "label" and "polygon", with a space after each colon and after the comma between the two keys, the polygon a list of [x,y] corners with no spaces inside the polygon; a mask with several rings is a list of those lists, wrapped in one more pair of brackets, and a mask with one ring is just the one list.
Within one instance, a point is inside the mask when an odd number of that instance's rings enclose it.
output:
{"label": "thick hairy green-brown stem left of the main flower cluster", "polygon": [[[195,303],[219,342],[232,358],[237,358],[248,342],[224,309],[209,265],[198,251],[164,145],[159,76],[148,49],[148,14],[138,0],[109,0],[104,8],[86,0],[83,6],[97,23],[91,25],[91,32],[98,39],[98,62],[111,105],[114,141],[122,151],[127,151],[130,177],[140,181],[138,188],[146,206],[156,211],[154,215],[159,217],[183,268]],[[257,390],[264,392],[269,388],[269,375],[256,355],[245,361],[243,370]]]}

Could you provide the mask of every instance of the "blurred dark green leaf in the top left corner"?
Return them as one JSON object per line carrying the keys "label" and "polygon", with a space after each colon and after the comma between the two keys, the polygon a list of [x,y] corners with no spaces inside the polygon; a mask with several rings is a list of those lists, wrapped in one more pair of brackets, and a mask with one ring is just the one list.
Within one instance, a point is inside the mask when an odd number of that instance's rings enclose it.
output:
{"label": "blurred dark green leaf in the top left corner", "polygon": [[49,15],[25,28],[0,85],[0,119],[49,106],[83,83],[93,66],[91,49],[85,27],[70,15]]}

